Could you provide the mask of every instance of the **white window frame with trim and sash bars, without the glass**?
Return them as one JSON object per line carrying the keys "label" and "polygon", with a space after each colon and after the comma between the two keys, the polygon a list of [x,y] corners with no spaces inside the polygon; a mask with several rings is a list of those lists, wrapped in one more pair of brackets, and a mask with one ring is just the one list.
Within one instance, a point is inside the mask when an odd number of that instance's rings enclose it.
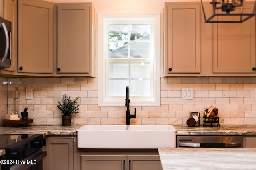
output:
{"label": "white window frame with trim and sash bars, without the glass", "polygon": [[[160,106],[160,13],[154,14],[99,14],[99,83],[98,83],[98,106],[124,106],[125,96],[109,96],[108,94],[108,77],[109,62],[150,62],[151,74],[150,96],[130,96],[131,106]],[[123,21],[123,19],[126,19]],[[127,21],[132,24],[152,24],[150,41],[153,55],[150,58],[108,58],[108,24],[127,24]],[[115,22],[116,21],[116,22]],[[149,22],[150,21],[150,22]],[[100,27],[102,25],[102,27]],[[102,39],[103,37],[103,39]],[[132,40],[133,42],[138,40]],[[141,40],[139,42],[142,42]],[[145,41],[146,42],[146,41]],[[148,42],[148,41],[147,41]],[[101,48],[103,47],[103,48]],[[104,50],[103,50],[104,49]],[[156,67],[158,65],[158,67]],[[104,71],[106,70],[106,71]],[[124,92],[126,86],[124,87]]]}

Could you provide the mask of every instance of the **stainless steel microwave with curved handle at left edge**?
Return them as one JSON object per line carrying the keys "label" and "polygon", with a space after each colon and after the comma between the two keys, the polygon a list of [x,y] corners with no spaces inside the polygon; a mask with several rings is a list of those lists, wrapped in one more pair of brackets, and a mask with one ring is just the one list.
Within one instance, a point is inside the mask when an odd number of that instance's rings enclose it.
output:
{"label": "stainless steel microwave with curved handle at left edge", "polygon": [[0,17],[0,68],[11,66],[12,23]]}

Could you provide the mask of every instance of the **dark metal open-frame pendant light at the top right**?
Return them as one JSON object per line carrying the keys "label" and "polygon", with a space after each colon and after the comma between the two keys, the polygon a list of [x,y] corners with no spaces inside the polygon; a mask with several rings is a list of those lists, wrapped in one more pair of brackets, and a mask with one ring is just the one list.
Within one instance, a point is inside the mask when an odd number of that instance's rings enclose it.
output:
{"label": "dark metal open-frame pendant light at the top right", "polygon": [[[209,1],[208,1],[209,2]],[[212,0],[212,16],[206,19],[204,5],[201,0],[205,23],[242,23],[255,16],[255,4],[249,13],[244,12],[244,0]]]}

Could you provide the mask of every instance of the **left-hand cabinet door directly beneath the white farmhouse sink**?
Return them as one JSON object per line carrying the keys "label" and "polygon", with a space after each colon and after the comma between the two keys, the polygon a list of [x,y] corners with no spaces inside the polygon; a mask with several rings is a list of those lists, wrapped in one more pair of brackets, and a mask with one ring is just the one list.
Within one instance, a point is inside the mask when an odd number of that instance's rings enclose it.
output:
{"label": "left-hand cabinet door directly beneath the white farmhouse sink", "polygon": [[126,155],[81,155],[81,170],[126,170]]}

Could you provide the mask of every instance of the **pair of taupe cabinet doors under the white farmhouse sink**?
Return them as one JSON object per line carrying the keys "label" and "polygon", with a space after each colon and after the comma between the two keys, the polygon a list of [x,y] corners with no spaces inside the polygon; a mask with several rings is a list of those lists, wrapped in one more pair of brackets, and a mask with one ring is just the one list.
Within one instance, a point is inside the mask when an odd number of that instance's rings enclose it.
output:
{"label": "pair of taupe cabinet doors under the white farmhouse sink", "polygon": [[81,155],[81,170],[162,170],[158,155]]}

